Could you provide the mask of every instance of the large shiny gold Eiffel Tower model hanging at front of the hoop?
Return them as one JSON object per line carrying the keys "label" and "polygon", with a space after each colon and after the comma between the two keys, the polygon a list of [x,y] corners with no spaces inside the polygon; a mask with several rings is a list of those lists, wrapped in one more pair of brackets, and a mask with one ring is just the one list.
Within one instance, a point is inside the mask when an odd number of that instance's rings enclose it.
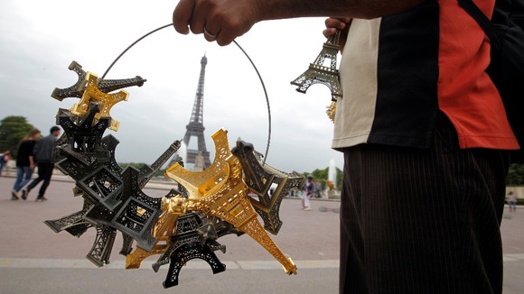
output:
{"label": "large shiny gold Eiffel Tower model hanging at front of the hoop", "polygon": [[295,262],[280,251],[257,219],[257,212],[248,198],[248,185],[242,179],[240,161],[229,150],[227,133],[220,129],[211,136],[216,154],[207,170],[192,172],[176,163],[165,170],[165,174],[187,188],[190,197],[184,205],[188,211],[202,211],[234,225],[271,253],[286,273],[296,274]]}

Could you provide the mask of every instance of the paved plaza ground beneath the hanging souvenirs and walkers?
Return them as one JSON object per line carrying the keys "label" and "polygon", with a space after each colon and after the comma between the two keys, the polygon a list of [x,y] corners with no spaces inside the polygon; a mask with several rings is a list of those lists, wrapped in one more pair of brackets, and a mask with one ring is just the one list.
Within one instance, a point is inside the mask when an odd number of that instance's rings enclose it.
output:
{"label": "paved plaza ground beneath the hanging souvenirs and walkers", "polygon": [[[167,266],[154,272],[157,256],[142,262],[138,270],[125,270],[125,257],[118,254],[121,236],[111,262],[98,268],[85,259],[95,232],[80,238],[66,232],[55,234],[43,224],[77,212],[82,198],[72,194],[74,183],[54,175],[45,202],[10,200],[13,174],[0,178],[0,293],[337,293],[339,260],[339,215],[328,209],[339,201],[313,199],[311,211],[303,211],[300,200],[285,198],[280,209],[284,222],[272,239],[297,264],[297,275],[288,276],[272,255],[248,235],[226,235],[218,241],[227,247],[217,252],[227,270],[213,274],[206,262],[192,260],[182,268],[179,285],[164,289]],[[150,197],[162,197],[173,186],[150,181],[144,189]],[[504,249],[504,293],[524,293],[524,209],[506,208],[501,225]]]}

